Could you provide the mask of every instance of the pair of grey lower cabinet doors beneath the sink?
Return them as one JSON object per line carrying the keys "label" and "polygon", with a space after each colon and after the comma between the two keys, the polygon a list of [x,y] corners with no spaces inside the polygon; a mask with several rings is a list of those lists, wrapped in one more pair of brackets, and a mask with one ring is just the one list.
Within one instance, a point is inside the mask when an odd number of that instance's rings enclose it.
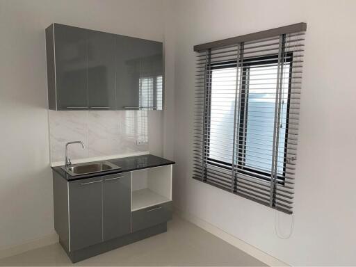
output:
{"label": "pair of grey lower cabinet doors beneath the sink", "polygon": [[131,232],[130,179],[126,172],[69,182],[71,250]]}

